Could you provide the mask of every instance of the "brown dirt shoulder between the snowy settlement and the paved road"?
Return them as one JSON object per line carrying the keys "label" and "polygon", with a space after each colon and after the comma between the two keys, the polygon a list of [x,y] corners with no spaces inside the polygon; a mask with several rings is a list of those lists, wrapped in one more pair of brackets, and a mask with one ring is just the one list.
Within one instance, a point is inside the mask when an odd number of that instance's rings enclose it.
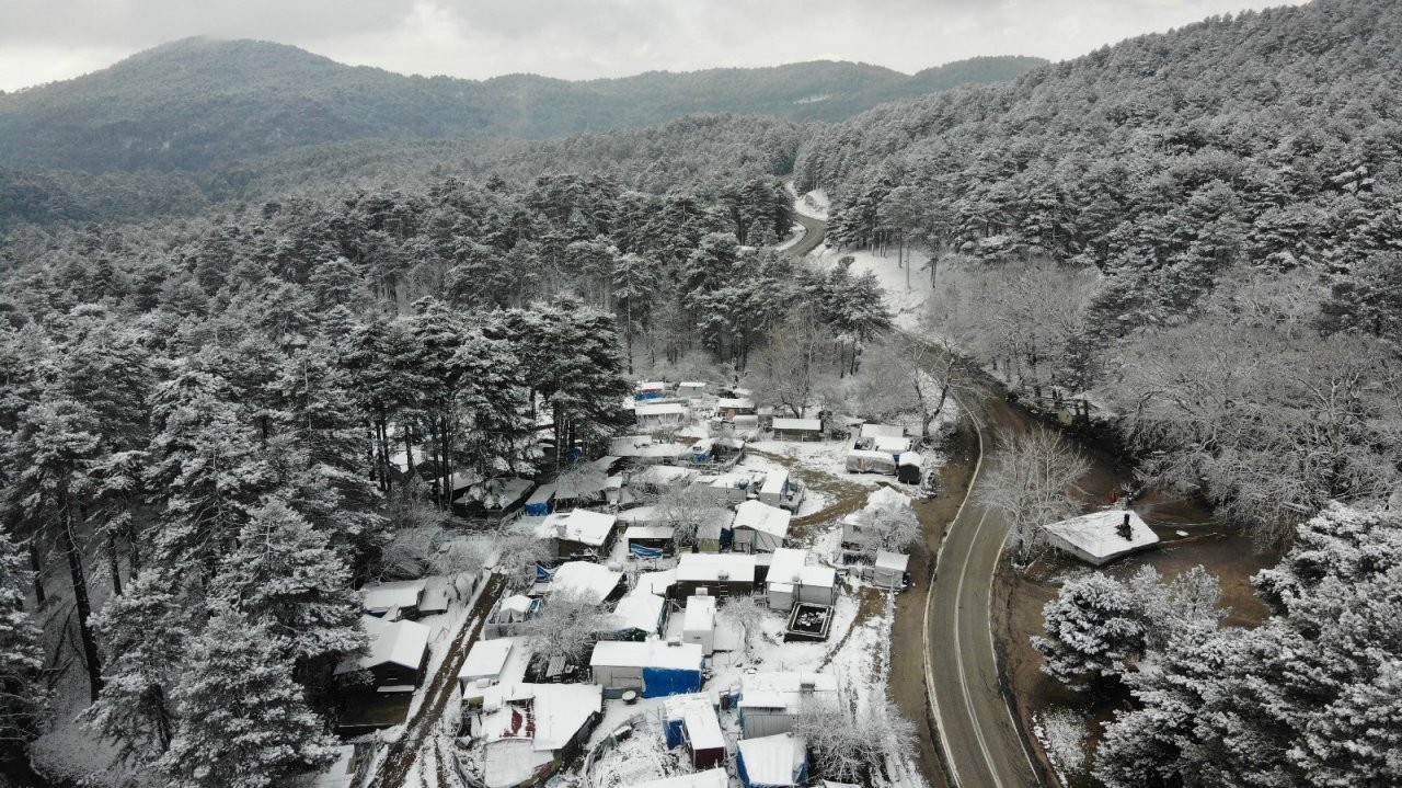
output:
{"label": "brown dirt shoulder between the snowy settlement and the paved road", "polygon": [[948,778],[944,760],[939,756],[938,733],[931,721],[921,628],[924,627],[925,595],[934,580],[935,551],[945,537],[945,529],[959,510],[959,503],[969,489],[969,478],[973,475],[973,467],[977,461],[979,444],[967,423],[960,423],[945,451],[949,454],[949,461],[939,468],[939,495],[932,501],[916,503],[916,515],[920,517],[925,540],[910,552],[911,587],[896,596],[890,680],[887,683],[887,693],[896,701],[896,707],[907,719],[916,722],[920,733],[917,761],[921,775],[932,788],[952,785],[952,781]]}

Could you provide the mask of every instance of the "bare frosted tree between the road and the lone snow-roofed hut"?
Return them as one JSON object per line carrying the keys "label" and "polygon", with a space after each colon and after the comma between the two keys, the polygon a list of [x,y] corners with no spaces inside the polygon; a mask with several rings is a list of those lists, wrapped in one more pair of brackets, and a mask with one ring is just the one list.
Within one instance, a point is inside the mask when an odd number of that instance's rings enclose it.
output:
{"label": "bare frosted tree between the road and the lone snow-roofed hut", "polygon": [[1091,464],[1060,433],[1040,428],[1021,436],[1000,435],[991,458],[979,499],[1012,526],[1008,543],[1014,565],[1026,568],[1042,544],[1037,527],[1080,512],[1071,491]]}

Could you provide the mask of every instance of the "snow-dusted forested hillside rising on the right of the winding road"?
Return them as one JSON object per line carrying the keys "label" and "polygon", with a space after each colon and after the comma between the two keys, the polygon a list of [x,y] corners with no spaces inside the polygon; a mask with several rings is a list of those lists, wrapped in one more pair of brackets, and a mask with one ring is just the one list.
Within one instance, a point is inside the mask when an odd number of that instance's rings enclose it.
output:
{"label": "snow-dusted forested hillside rising on the right of the winding road", "polygon": [[796,178],[841,243],[948,261],[941,330],[1273,538],[1398,482],[1399,98],[1402,6],[1316,0],[873,109]]}

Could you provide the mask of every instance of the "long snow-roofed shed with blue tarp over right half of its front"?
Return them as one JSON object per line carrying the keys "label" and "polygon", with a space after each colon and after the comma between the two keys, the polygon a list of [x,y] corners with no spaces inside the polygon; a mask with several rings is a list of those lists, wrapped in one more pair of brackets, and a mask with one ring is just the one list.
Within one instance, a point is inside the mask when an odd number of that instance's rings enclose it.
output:
{"label": "long snow-roofed shed with blue tarp over right half of its front", "polygon": [[[659,698],[701,688],[701,646],[676,641],[599,641],[589,658],[594,684]],[[617,695],[614,695],[617,697]]]}

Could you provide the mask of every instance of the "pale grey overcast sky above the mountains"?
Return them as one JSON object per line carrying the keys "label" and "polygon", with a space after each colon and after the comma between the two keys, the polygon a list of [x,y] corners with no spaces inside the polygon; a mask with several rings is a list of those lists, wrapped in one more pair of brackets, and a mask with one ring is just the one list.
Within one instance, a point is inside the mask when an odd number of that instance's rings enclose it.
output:
{"label": "pale grey overcast sky above the mountains", "polygon": [[0,90],[177,38],[261,38],[352,64],[564,79],[862,60],[913,73],[976,55],[1061,60],[1293,0],[0,0]]}

